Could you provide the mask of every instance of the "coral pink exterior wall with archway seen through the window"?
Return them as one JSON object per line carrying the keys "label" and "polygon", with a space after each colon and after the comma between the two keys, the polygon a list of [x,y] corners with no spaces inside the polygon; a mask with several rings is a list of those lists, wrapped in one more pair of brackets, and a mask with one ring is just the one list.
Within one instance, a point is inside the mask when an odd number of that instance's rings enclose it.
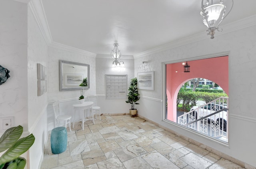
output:
{"label": "coral pink exterior wall with archway seen through the window", "polygon": [[[190,79],[205,78],[220,85],[228,94],[228,56],[189,61],[190,72],[184,73],[182,62],[166,65],[167,119],[176,122],[177,95]],[[177,72],[176,72],[177,71]]]}

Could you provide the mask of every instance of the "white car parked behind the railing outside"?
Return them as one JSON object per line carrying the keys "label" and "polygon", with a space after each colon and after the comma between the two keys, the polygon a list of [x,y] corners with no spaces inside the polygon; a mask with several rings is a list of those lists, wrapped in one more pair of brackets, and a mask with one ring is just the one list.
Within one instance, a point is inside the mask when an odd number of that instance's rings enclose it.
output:
{"label": "white car parked behind the railing outside", "polygon": [[[201,117],[205,117],[207,115],[210,115],[220,109],[222,109],[223,105],[217,105],[215,103],[209,103],[208,105],[205,105],[203,107],[200,106],[193,106],[190,111],[192,111],[192,116],[195,117],[195,119],[199,119]],[[224,105],[224,108],[226,108],[226,106]],[[195,111],[193,111],[195,110]],[[198,115],[198,111],[199,115]],[[194,114],[196,113],[196,114]],[[214,115],[211,115],[209,117],[207,117],[208,121],[212,120],[212,123],[216,123],[218,125],[216,125],[216,127],[218,127],[219,129],[222,129],[222,125],[223,125],[223,131],[227,131],[227,111],[220,111],[219,113],[216,113]],[[222,120],[223,120],[223,124],[222,124]]]}

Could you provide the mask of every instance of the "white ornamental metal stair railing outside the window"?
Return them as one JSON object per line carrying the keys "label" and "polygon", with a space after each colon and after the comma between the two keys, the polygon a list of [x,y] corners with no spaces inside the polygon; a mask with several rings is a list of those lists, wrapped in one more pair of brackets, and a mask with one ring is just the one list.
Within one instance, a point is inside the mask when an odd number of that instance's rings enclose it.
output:
{"label": "white ornamental metal stair railing outside the window", "polygon": [[178,116],[177,123],[228,142],[228,97],[192,107]]}

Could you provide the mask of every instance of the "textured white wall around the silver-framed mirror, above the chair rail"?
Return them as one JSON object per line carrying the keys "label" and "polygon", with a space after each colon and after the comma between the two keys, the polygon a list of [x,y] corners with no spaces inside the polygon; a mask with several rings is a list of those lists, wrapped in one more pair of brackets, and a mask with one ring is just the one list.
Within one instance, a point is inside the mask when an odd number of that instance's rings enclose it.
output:
{"label": "textured white wall around the silver-framed mirror, above the chair rail", "polygon": [[63,100],[80,96],[79,90],[60,91],[59,90],[59,60],[78,62],[90,65],[90,89],[85,89],[84,95],[96,93],[96,66],[95,58],[78,54],[66,50],[49,47],[48,48],[48,100]]}

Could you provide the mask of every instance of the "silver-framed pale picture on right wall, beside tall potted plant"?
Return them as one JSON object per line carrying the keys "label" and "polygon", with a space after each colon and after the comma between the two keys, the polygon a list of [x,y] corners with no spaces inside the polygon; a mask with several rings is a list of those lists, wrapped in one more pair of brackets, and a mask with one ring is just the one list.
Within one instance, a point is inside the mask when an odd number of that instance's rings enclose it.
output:
{"label": "silver-framed pale picture on right wall, beside tall potted plant", "polygon": [[154,90],[154,71],[138,73],[138,89]]}

